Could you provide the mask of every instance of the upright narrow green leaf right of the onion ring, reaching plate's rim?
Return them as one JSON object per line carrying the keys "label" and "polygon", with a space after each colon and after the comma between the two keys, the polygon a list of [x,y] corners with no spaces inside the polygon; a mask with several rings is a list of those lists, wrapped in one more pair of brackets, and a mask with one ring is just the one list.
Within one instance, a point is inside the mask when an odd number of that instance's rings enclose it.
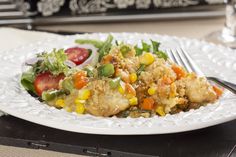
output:
{"label": "upright narrow green leaf right of the onion ring, reaching plate's rim", "polygon": [[107,55],[112,47],[113,36],[109,35],[106,41],[103,43],[102,47],[98,50],[99,57],[98,60],[101,61],[102,57]]}

